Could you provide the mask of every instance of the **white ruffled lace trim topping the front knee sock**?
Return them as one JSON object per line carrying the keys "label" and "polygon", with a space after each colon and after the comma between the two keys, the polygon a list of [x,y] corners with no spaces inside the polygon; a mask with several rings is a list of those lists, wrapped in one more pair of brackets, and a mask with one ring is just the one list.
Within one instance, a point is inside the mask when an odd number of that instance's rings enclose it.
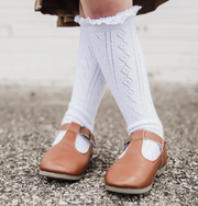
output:
{"label": "white ruffled lace trim topping the front knee sock", "polygon": [[81,18],[80,15],[75,16],[75,22],[79,24],[94,24],[94,25],[100,25],[100,24],[122,24],[124,20],[131,15],[136,15],[138,11],[142,7],[140,5],[133,5],[132,9],[122,11],[120,13],[117,13],[113,16],[107,16],[107,18],[100,18],[100,19],[90,19],[90,18]]}

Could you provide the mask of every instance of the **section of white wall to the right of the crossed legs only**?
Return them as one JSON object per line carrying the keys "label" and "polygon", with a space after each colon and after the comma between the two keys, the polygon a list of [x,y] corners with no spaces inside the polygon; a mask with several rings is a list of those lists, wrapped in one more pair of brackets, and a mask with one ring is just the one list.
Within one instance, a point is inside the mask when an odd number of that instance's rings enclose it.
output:
{"label": "section of white wall to the right of the crossed legs only", "polygon": [[198,1],[169,0],[136,23],[155,79],[198,82]]}

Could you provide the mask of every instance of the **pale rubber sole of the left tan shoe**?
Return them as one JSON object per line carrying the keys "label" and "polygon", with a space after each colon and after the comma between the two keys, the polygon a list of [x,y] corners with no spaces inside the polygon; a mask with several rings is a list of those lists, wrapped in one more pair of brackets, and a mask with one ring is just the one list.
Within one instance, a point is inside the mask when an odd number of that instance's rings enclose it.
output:
{"label": "pale rubber sole of the left tan shoe", "polygon": [[43,176],[52,178],[52,179],[62,179],[62,180],[72,180],[72,181],[77,181],[80,180],[81,175],[69,175],[69,174],[61,174],[61,173],[55,173],[55,172],[47,172],[40,170],[40,174]]}

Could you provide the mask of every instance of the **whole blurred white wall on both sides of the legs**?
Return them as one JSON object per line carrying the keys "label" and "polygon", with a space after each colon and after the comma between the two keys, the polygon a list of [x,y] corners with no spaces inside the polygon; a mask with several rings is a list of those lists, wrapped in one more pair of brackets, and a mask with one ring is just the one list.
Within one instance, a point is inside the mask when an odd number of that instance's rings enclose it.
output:
{"label": "whole blurred white wall on both sides of the legs", "polygon": [[[0,0],[0,83],[70,85],[79,28],[57,28],[56,16],[33,7],[34,0]],[[136,25],[154,80],[198,82],[197,0],[170,0]]]}

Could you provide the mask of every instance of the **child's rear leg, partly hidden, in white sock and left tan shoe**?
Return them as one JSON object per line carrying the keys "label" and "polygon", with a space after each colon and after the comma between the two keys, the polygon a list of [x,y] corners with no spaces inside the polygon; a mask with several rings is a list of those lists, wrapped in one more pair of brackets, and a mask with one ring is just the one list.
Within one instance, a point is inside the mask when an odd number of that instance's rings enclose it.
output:
{"label": "child's rear leg, partly hidden, in white sock and left tan shoe", "polygon": [[53,147],[40,163],[44,176],[79,180],[96,146],[91,131],[106,81],[87,34],[81,25],[73,95]]}

